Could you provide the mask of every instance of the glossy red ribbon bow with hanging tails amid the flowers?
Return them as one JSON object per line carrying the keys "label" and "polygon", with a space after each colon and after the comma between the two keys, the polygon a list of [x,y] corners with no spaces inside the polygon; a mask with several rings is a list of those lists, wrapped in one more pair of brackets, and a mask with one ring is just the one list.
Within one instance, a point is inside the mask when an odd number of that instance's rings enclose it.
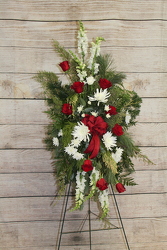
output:
{"label": "glossy red ribbon bow with hanging tails amid the flowers", "polygon": [[95,117],[93,115],[85,115],[81,120],[83,124],[88,126],[92,135],[89,146],[84,151],[86,154],[91,154],[90,159],[95,158],[100,150],[100,136],[106,133],[108,124],[103,120],[101,116]]}

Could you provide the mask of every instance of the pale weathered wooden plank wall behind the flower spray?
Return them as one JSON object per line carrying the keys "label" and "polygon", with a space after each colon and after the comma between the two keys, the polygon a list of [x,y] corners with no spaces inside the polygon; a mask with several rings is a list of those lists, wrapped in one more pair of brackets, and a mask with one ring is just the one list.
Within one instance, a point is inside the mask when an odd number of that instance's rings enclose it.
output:
{"label": "pale weathered wooden plank wall behind the flower spray", "polygon": [[[130,249],[167,249],[166,13],[165,0],[0,1],[0,250],[56,249],[63,201],[50,206],[55,185],[42,142],[49,121],[32,77],[38,70],[60,73],[51,41],[75,51],[76,20],[89,39],[106,39],[102,52],[113,54],[116,69],[127,74],[125,86],[143,97],[132,133],[156,165],[135,161],[139,185],[116,196]],[[86,209],[68,213],[66,231],[79,226]],[[111,218],[118,223],[112,201]],[[90,249],[87,234],[65,235],[62,244],[62,250]],[[126,245],[112,230],[92,233],[92,249]]]}

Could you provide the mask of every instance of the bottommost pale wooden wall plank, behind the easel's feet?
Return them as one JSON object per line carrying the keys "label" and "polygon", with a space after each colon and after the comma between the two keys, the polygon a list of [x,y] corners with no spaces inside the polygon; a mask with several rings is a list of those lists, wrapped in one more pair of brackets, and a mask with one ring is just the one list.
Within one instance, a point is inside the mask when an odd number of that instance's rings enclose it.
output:
{"label": "bottommost pale wooden wall plank, behind the easel's feet", "polygon": [[[165,250],[166,246],[166,220],[154,218],[150,219],[134,219],[134,220],[123,220],[126,230],[127,237],[132,249],[138,249],[138,247],[148,246],[149,250],[156,249],[150,248],[157,246],[162,243],[162,248]],[[71,224],[72,225],[72,224]],[[147,232],[145,232],[147,228]],[[157,229],[158,230],[155,230]],[[137,230],[138,229],[138,230]],[[0,238],[1,247],[17,248],[17,247],[43,247],[56,245],[56,235],[57,235],[57,224],[55,221],[46,222],[27,222],[27,223],[11,223],[10,227],[7,223],[1,224],[1,230],[5,232],[4,236]],[[39,234],[40,232],[40,234]],[[146,236],[145,243],[143,243],[141,235]],[[81,249],[89,249],[88,245],[88,235],[82,233],[79,238],[79,242],[76,242],[77,235],[68,235],[62,239],[62,248],[72,250],[82,247]],[[111,249],[112,246],[116,250],[125,249],[125,244],[123,245],[123,237],[118,230],[108,231],[101,237],[101,231],[92,234],[92,246],[93,250],[101,250],[102,247],[106,246],[106,249]],[[11,242],[12,238],[12,242]],[[70,242],[70,244],[69,244]],[[107,242],[107,243],[106,243]],[[119,242],[119,243],[117,243]],[[155,243],[155,244],[154,244]],[[77,244],[77,245],[76,245]],[[110,246],[110,248],[109,248]],[[74,248],[75,247],[75,248]],[[86,248],[87,247],[87,248]],[[124,247],[124,248],[123,248]],[[5,249],[5,248],[4,248]],[[47,249],[47,248],[46,248]],[[142,248],[139,248],[142,249]]]}

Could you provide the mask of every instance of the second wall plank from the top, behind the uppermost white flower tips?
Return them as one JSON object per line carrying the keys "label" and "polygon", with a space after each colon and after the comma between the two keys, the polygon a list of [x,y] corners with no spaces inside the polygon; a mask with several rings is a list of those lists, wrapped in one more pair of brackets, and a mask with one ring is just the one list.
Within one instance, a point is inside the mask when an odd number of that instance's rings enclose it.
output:
{"label": "second wall plank from the top, behind the uppermost white flower tips", "polygon": [[[62,46],[76,47],[78,23],[74,22],[21,22],[2,20],[0,46],[3,47],[45,47],[50,48],[52,39]],[[84,22],[89,41],[97,36],[105,38],[103,46],[162,46],[167,38],[162,34],[166,22],[161,20],[127,21],[99,20]],[[17,38],[17,39],[15,39]],[[143,39],[144,38],[144,39]]]}

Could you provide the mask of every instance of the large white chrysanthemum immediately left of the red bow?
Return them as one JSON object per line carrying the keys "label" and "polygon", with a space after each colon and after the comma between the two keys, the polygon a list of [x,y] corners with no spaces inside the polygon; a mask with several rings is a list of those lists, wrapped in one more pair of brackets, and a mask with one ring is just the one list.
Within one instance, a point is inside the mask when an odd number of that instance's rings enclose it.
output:
{"label": "large white chrysanthemum immediately left of the red bow", "polygon": [[80,141],[86,141],[89,139],[89,128],[82,122],[78,122],[78,125],[74,127],[72,135]]}

